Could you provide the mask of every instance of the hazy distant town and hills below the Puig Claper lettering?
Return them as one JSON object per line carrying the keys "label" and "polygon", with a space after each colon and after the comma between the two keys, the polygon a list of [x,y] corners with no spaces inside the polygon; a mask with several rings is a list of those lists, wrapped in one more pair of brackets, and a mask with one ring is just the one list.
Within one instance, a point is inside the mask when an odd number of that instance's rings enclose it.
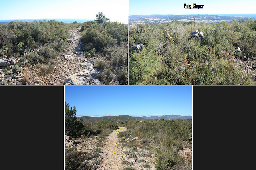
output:
{"label": "hazy distant town and hills below the Puig Claper lettering", "polygon": [[[240,20],[246,17],[240,16],[218,16],[218,15],[131,15],[129,16],[129,26],[133,26],[139,24],[140,22],[145,23],[167,23],[172,22],[174,20],[181,21],[181,22],[205,22],[205,23],[219,23],[221,21],[231,22],[232,19],[235,18],[236,20]],[[251,17],[253,20],[256,17]]]}

